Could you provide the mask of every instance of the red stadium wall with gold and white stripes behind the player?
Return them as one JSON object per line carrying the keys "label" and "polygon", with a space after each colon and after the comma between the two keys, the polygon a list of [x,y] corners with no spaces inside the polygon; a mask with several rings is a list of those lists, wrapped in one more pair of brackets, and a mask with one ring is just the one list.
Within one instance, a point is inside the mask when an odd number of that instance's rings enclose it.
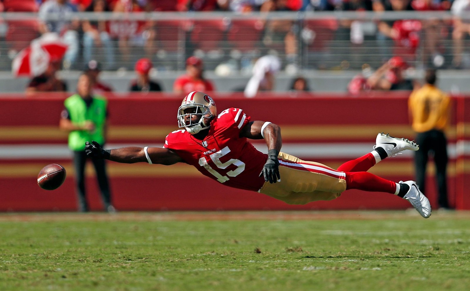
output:
{"label": "red stadium wall with gold and white stripes behind the player", "polygon": [[[66,134],[58,130],[63,94],[31,98],[0,96],[0,211],[74,211],[76,197],[73,166],[65,154]],[[176,109],[181,96],[171,94],[108,95],[110,132],[108,144],[162,145],[176,129]],[[413,138],[408,123],[406,93],[345,95],[263,95],[246,99],[239,94],[217,95],[219,112],[242,108],[254,120],[282,127],[283,149],[298,157],[337,167],[372,149],[378,132]],[[470,209],[470,98],[454,97],[449,146],[457,149],[449,163],[451,205]],[[457,106],[458,105],[458,106]],[[259,141],[258,143],[259,144]],[[261,145],[261,144],[259,144]],[[467,145],[467,146],[466,146]],[[63,186],[54,191],[36,184],[39,170],[58,163],[67,169]],[[404,209],[410,205],[383,193],[345,191],[333,201],[288,205],[256,192],[227,188],[188,165],[108,163],[116,208],[126,210],[293,210],[293,209]],[[384,178],[414,178],[412,155],[404,154],[371,169]],[[430,165],[426,195],[437,206]],[[87,189],[92,210],[101,209],[94,172],[87,168]]]}

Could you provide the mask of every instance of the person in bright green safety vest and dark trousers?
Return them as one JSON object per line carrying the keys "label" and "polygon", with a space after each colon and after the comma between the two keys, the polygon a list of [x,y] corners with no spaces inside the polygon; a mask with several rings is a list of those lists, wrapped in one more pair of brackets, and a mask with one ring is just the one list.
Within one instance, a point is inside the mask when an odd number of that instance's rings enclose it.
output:
{"label": "person in bright green safety vest and dark trousers", "polygon": [[[99,144],[106,141],[107,101],[100,95],[93,95],[93,79],[86,73],[78,78],[77,94],[64,101],[60,128],[69,133],[69,148],[73,151],[75,178],[78,196],[78,211],[89,211],[85,191],[85,142],[94,140]],[[104,160],[92,160],[101,190],[104,210],[115,212],[111,204],[110,186]]]}

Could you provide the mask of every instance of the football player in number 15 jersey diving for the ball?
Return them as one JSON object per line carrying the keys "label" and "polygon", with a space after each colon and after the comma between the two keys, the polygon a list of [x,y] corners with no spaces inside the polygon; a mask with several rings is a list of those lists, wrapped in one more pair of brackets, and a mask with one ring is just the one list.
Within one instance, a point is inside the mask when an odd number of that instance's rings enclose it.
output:
{"label": "football player in number 15 jersey diving for the ball", "polygon": [[[378,134],[373,151],[333,169],[281,152],[279,126],[251,120],[239,108],[217,114],[213,99],[197,91],[181,102],[178,125],[179,130],[166,136],[163,148],[102,149],[97,142],[86,142],[86,154],[119,163],[187,163],[226,186],[257,191],[288,204],[332,200],[348,189],[386,192],[408,200],[424,218],[431,216],[429,200],[415,181],[396,183],[367,172],[386,157],[419,149],[407,139]],[[264,139],[267,154],[255,149],[248,139]]]}

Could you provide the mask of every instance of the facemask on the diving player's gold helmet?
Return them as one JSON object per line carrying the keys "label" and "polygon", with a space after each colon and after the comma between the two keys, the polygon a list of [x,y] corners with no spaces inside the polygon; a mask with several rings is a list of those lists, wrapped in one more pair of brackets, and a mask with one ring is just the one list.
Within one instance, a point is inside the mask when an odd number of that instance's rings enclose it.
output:
{"label": "facemask on the diving player's gold helmet", "polygon": [[[193,121],[192,117],[195,115],[199,118]],[[178,126],[180,128],[184,127],[189,134],[197,134],[201,130],[209,128],[211,118],[211,110],[209,106],[204,104],[183,104],[178,108]]]}

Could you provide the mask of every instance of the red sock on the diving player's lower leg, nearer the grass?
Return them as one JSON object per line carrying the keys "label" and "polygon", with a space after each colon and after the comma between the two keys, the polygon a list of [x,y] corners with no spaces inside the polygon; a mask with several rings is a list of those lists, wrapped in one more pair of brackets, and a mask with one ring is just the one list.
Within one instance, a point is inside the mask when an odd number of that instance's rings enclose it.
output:
{"label": "red sock on the diving player's lower leg, nearer the grass", "polygon": [[397,185],[368,172],[346,172],[346,190],[359,189],[395,194]]}

